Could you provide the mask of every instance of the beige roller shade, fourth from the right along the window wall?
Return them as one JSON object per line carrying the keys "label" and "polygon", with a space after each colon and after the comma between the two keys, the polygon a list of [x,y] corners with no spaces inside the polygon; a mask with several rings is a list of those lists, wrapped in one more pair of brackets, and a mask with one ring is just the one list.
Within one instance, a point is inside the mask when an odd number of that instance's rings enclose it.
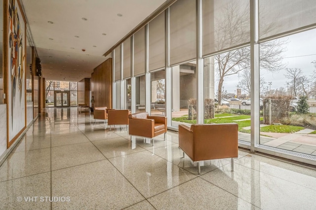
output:
{"label": "beige roller shade, fourth from the right along the window wall", "polygon": [[149,71],[165,65],[164,12],[149,22]]}

